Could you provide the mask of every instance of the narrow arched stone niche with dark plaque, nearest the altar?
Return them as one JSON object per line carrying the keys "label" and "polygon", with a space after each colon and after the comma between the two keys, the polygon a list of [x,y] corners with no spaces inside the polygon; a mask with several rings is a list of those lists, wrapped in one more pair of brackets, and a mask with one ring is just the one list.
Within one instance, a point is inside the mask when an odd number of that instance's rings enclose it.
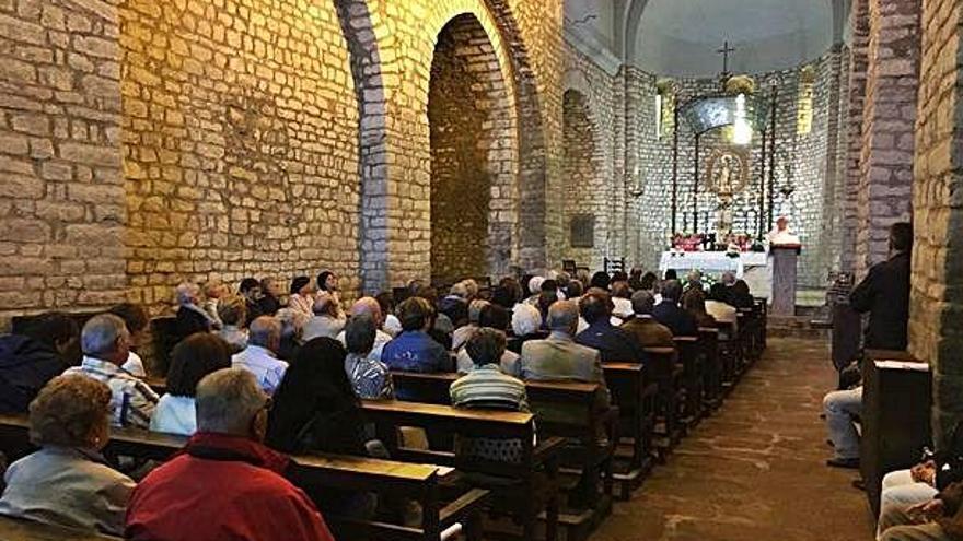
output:
{"label": "narrow arched stone niche with dark plaque, nearest the altar", "polygon": [[[604,254],[607,221],[605,216],[604,179],[600,175],[602,149],[595,116],[587,94],[577,89],[567,89],[562,95],[562,176],[564,226],[566,259],[575,259],[579,264],[600,268]],[[591,216],[593,224],[592,247],[573,246],[572,221]]]}

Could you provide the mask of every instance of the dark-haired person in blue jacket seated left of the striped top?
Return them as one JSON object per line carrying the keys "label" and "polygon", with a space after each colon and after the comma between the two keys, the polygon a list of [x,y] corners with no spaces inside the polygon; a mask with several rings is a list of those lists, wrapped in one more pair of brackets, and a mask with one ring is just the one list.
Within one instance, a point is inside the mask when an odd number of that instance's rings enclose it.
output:
{"label": "dark-haired person in blue jacket seated left of the striped top", "polygon": [[385,344],[381,357],[388,368],[422,373],[451,369],[448,350],[428,333],[433,311],[431,304],[420,296],[408,298],[398,306],[402,332]]}

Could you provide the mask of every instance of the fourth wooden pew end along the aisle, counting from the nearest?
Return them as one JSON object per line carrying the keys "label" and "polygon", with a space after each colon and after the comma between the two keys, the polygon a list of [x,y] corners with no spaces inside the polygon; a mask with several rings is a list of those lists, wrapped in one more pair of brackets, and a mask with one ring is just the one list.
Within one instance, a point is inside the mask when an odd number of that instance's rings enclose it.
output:
{"label": "fourth wooden pew end along the aisle, counting from the nearest", "polygon": [[627,444],[630,454],[623,467],[616,449],[614,481],[618,484],[620,499],[628,499],[641,485],[652,468],[655,431],[655,396],[659,386],[649,371],[637,363],[605,363],[605,384],[612,393],[612,403],[618,407],[619,444]]}

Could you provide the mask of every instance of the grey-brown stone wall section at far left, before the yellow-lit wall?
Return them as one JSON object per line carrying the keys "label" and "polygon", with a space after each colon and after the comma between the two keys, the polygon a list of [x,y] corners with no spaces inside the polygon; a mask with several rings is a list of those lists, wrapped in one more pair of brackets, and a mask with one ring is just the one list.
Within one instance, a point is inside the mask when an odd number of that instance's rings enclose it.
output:
{"label": "grey-brown stone wall section at far left, before the yellow-lit wall", "polygon": [[118,19],[0,2],[0,319],[124,299]]}

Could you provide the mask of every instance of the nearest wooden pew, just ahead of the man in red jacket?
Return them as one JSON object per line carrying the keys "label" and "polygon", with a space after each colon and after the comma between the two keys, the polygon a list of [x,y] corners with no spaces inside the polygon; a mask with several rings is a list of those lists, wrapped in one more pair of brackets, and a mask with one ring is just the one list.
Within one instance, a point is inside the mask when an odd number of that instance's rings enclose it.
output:
{"label": "nearest wooden pew, just ahead of the man in red jacket", "polygon": [[[26,416],[0,415],[0,449],[22,446],[27,430]],[[106,455],[164,461],[181,450],[186,442],[186,437],[173,434],[113,427],[111,442],[104,451]],[[421,504],[420,528],[325,514],[325,521],[336,534],[350,539],[374,536],[398,541],[437,541],[443,531],[457,522],[464,526],[471,539],[480,540],[478,516],[488,492],[466,491],[445,505],[439,497],[439,485],[444,477],[442,473],[449,471],[446,469],[340,455],[301,455],[291,458],[293,463],[289,477],[298,485],[395,494]]]}

